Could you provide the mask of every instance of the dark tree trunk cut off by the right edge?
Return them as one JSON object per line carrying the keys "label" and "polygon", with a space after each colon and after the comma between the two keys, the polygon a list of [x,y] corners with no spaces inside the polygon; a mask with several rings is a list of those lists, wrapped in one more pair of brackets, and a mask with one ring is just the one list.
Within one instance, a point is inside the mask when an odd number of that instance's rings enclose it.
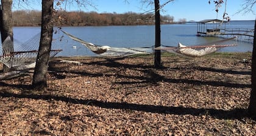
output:
{"label": "dark tree trunk cut off by the right edge", "polygon": [[[256,30],[256,19],[254,24],[254,30]],[[249,114],[256,119],[256,33],[254,31],[254,46],[252,50],[252,90],[251,90],[251,97],[250,103],[248,107]]]}

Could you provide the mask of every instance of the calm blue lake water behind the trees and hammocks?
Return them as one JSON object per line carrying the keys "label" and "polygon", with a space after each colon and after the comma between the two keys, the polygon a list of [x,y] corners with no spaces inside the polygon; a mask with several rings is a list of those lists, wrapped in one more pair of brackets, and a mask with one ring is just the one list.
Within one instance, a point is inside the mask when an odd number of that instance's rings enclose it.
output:
{"label": "calm blue lake water behind the trees and hammocks", "polygon": [[[161,42],[164,46],[177,46],[179,42],[187,46],[204,44],[216,41],[219,38],[196,36],[196,23],[168,24],[161,25]],[[254,21],[230,21],[226,28],[254,29]],[[82,46],[79,42],[73,41],[54,28],[57,33],[59,49],[63,49],[58,56],[94,56],[90,50]],[[68,33],[80,39],[111,47],[151,47],[155,44],[154,25],[134,25],[134,26],[97,26],[97,27],[62,27]],[[40,33],[40,27],[14,27],[14,38],[20,42],[25,42]],[[62,38],[62,41],[59,39]],[[73,48],[76,46],[76,49]],[[238,42],[236,47],[226,47],[219,52],[252,52],[252,43]]]}

